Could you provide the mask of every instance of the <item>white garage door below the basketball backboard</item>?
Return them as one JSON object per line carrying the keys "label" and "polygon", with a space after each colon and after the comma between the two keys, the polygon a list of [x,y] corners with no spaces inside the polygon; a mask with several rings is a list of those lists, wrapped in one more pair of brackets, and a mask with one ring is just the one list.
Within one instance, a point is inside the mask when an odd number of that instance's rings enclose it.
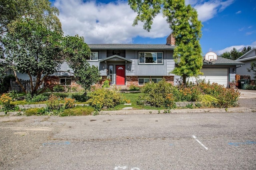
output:
{"label": "white garage door below the basketball backboard", "polygon": [[[200,79],[205,79],[206,82],[208,80],[210,83],[218,83],[228,86],[228,68],[202,68],[201,72],[204,75],[199,75]],[[195,78],[189,78],[189,81],[196,81]]]}

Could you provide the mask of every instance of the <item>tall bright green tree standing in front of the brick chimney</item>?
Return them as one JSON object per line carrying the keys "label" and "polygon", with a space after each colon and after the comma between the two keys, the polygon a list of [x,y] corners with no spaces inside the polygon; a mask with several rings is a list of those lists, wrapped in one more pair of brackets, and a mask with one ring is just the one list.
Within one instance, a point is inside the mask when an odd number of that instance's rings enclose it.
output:
{"label": "tall bright green tree standing in front of the brick chimney", "polygon": [[128,0],[128,4],[138,14],[133,25],[142,21],[147,31],[150,31],[155,16],[160,12],[167,18],[172,35],[176,38],[173,57],[176,62],[179,60],[172,73],[182,76],[184,84],[187,77],[202,74],[202,49],[199,43],[202,23],[198,21],[194,8],[186,6],[184,0]]}

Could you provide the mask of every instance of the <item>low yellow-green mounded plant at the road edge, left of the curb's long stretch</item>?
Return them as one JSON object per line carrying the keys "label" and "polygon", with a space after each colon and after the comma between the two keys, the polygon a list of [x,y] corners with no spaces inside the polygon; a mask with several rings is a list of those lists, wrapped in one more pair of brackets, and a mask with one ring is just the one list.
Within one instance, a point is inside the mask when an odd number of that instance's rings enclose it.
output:
{"label": "low yellow-green mounded plant at the road edge, left of the curb's long stretch", "polygon": [[71,109],[65,109],[60,116],[80,116],[80,115],[91,115],[94,111],[93,107],[90,106],[76,106]]}

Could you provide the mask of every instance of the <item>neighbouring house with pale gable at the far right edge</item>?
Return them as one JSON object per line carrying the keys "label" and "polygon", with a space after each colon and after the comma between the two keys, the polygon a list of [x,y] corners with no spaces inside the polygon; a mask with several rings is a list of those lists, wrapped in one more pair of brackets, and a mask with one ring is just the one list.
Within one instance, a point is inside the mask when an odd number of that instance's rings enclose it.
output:
{"label": "neighbouring house with pale gable at the far right edge", "polygon": [[247,68],[250,68],[251,63],[256,61],[256,48],[255,47],[252,48],[250,51],[248,51],[247,53],[245,53],[244,55],[242,55],[241,57],[236,59],[236,61],[240,61],[240,62],[244,63],[243,66],[238,67],[236,69],[236,74],[250,75],[251,76],[251,80],[254,80],[253,72],[248,72]]}

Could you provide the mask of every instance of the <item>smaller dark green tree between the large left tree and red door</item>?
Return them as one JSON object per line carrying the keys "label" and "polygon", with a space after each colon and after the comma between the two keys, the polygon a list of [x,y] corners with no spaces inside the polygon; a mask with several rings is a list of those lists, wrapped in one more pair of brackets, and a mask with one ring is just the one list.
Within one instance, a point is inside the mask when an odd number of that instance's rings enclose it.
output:
{"label": "smaller dark green tree between the large left tree and red door", "polygon": [[[76,83],[85,90],[90,90],[91,85],[98,82],[100,72],[98,67],[90,66],[86,61],[89,59],[91,51],[88,45],[84,43],[84,37],[66,36],[63,45],[66,62],[74,70]],[[86,91],[84,95],[86,95]]]}

